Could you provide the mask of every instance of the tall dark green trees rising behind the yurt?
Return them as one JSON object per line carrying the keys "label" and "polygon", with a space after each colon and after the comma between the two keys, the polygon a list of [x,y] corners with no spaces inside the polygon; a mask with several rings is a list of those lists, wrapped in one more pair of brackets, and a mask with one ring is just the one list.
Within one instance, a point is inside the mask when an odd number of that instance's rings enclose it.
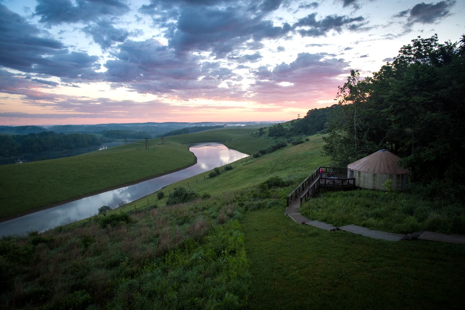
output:
{"label": "tall dark green trees rising behind the yurt", "polygon": [[412,181],[464,175],[465,35],[444,44],[418,37],[372,77],[352,70],[336,100],[324,147],[333,164],[389,149]]}

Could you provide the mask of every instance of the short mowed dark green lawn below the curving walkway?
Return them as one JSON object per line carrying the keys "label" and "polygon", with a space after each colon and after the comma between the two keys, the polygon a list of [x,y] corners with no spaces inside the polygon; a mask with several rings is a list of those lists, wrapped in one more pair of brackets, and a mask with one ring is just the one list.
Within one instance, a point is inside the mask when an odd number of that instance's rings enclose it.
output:
{"label": "short mowed dark green lawn below the curving walkway", "polygon": [[283,207],[240,222],[250,309],[463,309],[465,246],[299,225]]}

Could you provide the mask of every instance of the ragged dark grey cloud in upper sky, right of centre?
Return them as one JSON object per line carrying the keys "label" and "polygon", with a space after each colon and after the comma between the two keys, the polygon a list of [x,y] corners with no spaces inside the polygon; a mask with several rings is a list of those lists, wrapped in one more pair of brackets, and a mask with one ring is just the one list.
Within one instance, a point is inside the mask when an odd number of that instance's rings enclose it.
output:
{"label": "ragged dark grey cloud in upper sky, right of centre", "polygon": [[343,28],[357,30],[365,25],[362,23],[365,19],[362,16],[348,18],[345,15],[328,15],[324,19],[316,20],[317,13],[308,14],[306,17],[299,19],[292,28],[310,27],[309,29],[299,29],[298,32],[302,37],[321,37],[326,36],[330,31],[342,32]]}

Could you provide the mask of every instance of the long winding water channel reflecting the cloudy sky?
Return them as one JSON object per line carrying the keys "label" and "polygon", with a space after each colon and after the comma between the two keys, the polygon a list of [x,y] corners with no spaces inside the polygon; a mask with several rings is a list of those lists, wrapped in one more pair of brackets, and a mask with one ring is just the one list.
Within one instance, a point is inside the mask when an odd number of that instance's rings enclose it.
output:
{"label": "long winding water channel reflecting the cloudy sky", "polygon": [[103,205],[118,207],[121,200],[126,202],[138,200],[166,185],[248,156],[228,149],[220,143],[196,144],[190,147],[190,151],[197,157],[197,163],[191,167],[1,222],[0,236],[21,235],[31,230],[43,232],[56,226],[86,219],[97,213],[97,209]]}

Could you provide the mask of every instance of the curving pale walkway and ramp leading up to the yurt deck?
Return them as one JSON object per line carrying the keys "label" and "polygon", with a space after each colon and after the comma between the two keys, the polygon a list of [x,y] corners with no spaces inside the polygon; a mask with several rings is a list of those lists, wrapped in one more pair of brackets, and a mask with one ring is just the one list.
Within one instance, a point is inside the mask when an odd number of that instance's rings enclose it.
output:
{"label": "curving pale walkway and ramp leading up to the yurt deck", "polygon": [[301,191],[300,194],[294,198],[288,207],[286,207],[286,211],[284,214],[289,216],[292,220],[299,224],[306,224],[315,226],[321,229],[325,229],[327,231],[335,231],[335,230],[343,230],[345,232],[359,234],[365,237],[370,237],[374,239],[383,239],[388,241],[399,241],[402,239],[406,239],[405,237],[414,235],[414,238],[408,238],[408,240],[430,240],[430,241],[442,241],[442,242],[449,242],[449,243],[458,243],[458,244],[465,244],[465,236],[463,235],[455,235],[455,234],[445,234],[445,233],[434,233],[428,231],[420,231],[419,233],[409,234],[408,236],[396,233],[386,233],[379,230],[369,229],[366,227],[361,227],[357,225],[346,225],[341,227],[336,227],[331,224],[327,224],[325,222],[320,222],[317,220],[309,220],[299,212],[300,207],[300,198],[303,197],[306,193],[306,190],[316,182],[319,181],[319,177],[316,177],[310,184],[308,184],[304,189]]}

